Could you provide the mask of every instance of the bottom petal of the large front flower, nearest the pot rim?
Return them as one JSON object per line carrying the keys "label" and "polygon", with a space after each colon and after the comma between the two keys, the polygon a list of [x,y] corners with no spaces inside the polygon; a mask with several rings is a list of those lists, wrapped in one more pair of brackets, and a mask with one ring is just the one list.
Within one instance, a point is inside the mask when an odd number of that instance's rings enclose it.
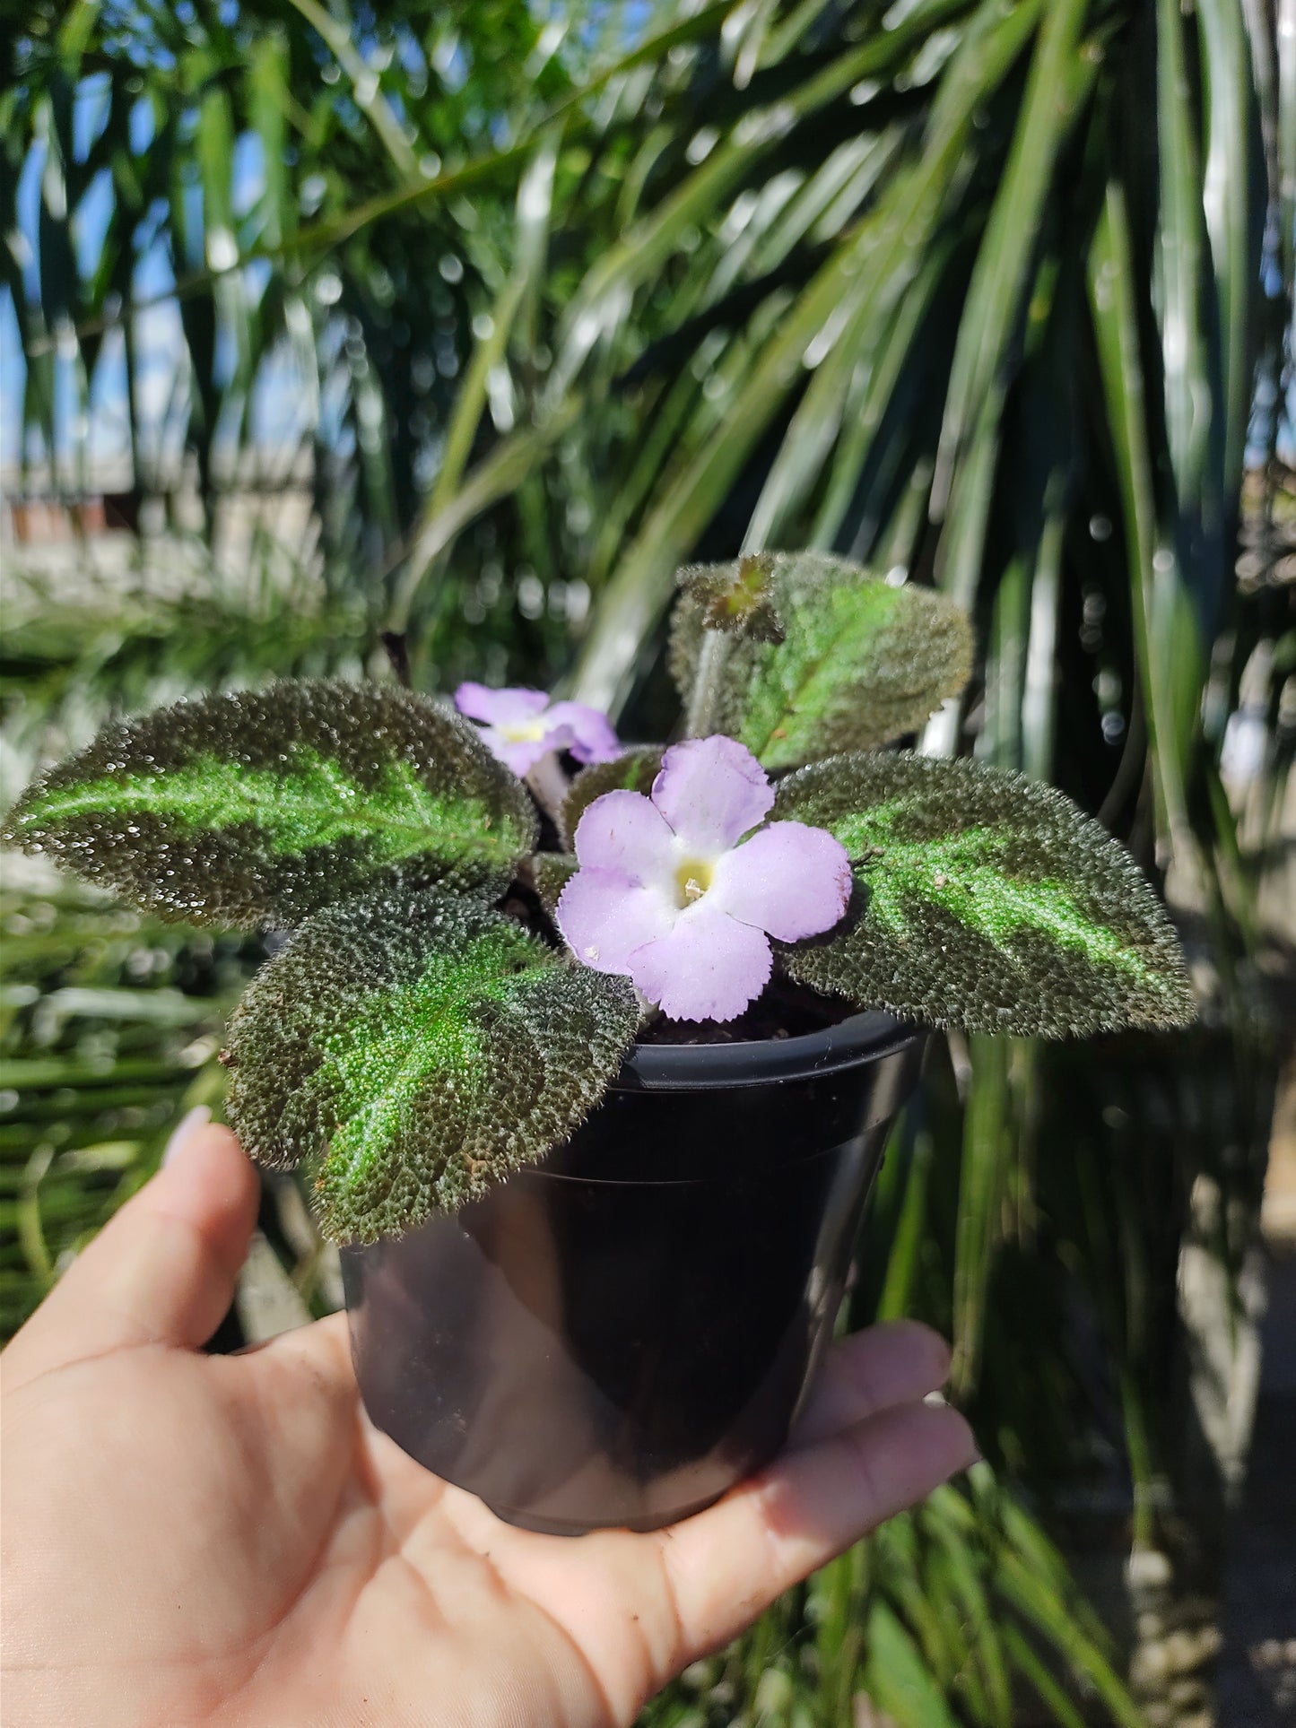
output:
{"label": "bottom petal of the large front flower, nearest the pot rim", "polygon": [[769,937],[705,900],[631,954],[629,973],[667,1020],[734,1020],[769,983]]}

